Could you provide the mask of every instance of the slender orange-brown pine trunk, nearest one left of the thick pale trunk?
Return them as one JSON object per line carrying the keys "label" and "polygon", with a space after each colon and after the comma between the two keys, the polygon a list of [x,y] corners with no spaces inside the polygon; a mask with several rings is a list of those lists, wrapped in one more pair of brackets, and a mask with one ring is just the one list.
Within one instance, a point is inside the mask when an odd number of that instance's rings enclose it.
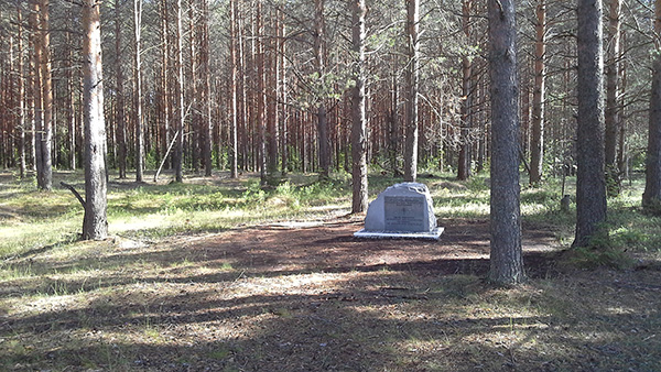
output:
{"label": "slender orange-brown pine trunk, nearest one left of the thick pale trunk", "polygon": [[42,184],[41,188],[53,188],[53,78],[51,75],[51,25],[50,0],[41,0],[40,4],[40,33],[41,33],[41,88],[42,88]]}

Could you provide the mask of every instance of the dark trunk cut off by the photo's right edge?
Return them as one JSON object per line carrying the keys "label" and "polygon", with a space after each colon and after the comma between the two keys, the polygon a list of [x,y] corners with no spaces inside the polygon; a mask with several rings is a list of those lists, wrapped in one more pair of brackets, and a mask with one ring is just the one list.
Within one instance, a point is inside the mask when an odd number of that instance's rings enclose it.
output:
{"label": "dark trunk cut off by the photo's right edge", "polygon": [[[654,33],[657,51],[661,37],[661,0],[655,1]],[[661,55],[657,53],[653,66],[652,92],[650,97],[650,121],[648,136],[646,184],[642,194],[644,207],[661,210]]]}

